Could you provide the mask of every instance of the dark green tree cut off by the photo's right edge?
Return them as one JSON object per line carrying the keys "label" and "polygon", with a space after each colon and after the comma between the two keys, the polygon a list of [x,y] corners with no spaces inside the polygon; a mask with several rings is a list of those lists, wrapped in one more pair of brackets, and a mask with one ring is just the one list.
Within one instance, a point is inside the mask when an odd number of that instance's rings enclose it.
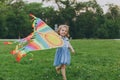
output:
{"label": "dark green tree cut off by the photo's right edge", "polygon": [[109,38],[120,38],[120,9],[117,5],[109,4],[109,12],[106,13],[106,26]]}

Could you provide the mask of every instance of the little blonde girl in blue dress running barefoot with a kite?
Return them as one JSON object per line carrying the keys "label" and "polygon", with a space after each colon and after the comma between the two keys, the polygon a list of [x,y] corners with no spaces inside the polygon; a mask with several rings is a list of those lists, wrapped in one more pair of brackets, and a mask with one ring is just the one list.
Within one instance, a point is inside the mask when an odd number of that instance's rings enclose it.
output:
{"label": "little blonde girl in blue dress running barefoot with a kite", "polygon": [[[66,78],[66,65],[70,64],[71,56],[70,50],[75,53],[73,47],[69,43],[69,26],[67,25],[60,25],[58,28],[58,34],[64,41],[64,45],[59,47],[56,50],[55,59],[54,59],[54,66],[56,66],[57,73],[62,73],[63,80],[67,80]],[[69,50],[70,49],[70,50]]]}

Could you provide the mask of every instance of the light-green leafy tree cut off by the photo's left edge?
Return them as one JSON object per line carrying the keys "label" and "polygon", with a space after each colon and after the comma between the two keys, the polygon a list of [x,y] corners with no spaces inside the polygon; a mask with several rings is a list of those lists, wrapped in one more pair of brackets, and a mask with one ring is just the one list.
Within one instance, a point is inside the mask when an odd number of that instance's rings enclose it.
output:
{"label": "light-green leafy tree cut off by the photo's left edge", "polygon": [[8,26],[6,26],[6,15],[9,12],[10,9],[10,3],[13,0],[1,0],[0,1],[0,38],[6,38],[6,36],[8,35]]}

